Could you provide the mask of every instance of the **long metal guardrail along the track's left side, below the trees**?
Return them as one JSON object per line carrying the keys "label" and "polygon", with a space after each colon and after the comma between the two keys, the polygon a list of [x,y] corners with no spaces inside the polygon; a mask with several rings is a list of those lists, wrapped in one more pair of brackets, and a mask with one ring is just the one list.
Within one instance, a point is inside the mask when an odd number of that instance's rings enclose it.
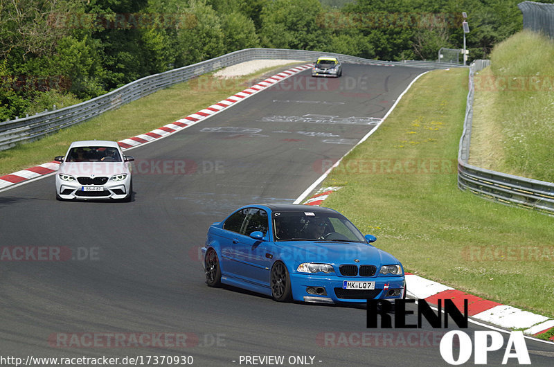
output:
{"label": "long metal guardrail along the track's left side, below the trees", "polygon": [[459,66],[424,61],[385,62],[381,60],[369,60],[361,57],[342,55],[338,53],[321,53],[317,51],[286,50],[278,48],[247,48],[215,57],[211,60],[197,64],[173,69],[164,73],[149,75],[135,80],[114,91],[98,96],[91,100],[81,102],[78,105],[46,111],[34,116],[17,118],[0,123],[0,150],[6,150],[17,143],[27,143],[42,138],[46,134],[57,132],[65,127],[82,123],[96,117],[110,109],[116,109],[133,100],[148,96],[150,93],[170,87],[173,84],[196,78],[204,73],[209,73],[226,66],[238,64],[250,60],[264,59],[290,59],[313,62],[319,56],[339,57],[342,62],[355,64],[382,64],[396,66],[412,66],[427,69],[443,69]]}

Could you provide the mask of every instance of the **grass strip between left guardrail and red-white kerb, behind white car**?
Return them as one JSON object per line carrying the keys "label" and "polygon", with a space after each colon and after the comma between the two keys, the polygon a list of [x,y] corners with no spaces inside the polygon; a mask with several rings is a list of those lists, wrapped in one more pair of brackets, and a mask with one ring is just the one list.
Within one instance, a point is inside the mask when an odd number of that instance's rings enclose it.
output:
{"label": "grass strip between left guardrail and red-white kerb, behind white car", "polygon": [[51,161],[55,156],[65,154],[73,141],[120,141],[150,132],[224,100],[273,75],[276,70],[297,64],[285,64],[278,68],[271,66],[244,77],[229,79],[216,78],[211,73],[175,84],[39,141],[0,152],[0,176]]}

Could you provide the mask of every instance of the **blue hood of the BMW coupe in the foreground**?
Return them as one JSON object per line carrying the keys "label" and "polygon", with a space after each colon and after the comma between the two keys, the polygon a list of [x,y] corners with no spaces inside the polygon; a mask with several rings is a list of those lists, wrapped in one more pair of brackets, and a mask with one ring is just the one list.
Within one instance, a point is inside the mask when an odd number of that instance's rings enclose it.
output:
{"label": "blue hood of the BMW coupe in the foreground", "polygon": [[390,253],[360,242],[283,241],[275,242],[278,256],[292,265],[301,262],[326,264],[396,265],[400,264]]}

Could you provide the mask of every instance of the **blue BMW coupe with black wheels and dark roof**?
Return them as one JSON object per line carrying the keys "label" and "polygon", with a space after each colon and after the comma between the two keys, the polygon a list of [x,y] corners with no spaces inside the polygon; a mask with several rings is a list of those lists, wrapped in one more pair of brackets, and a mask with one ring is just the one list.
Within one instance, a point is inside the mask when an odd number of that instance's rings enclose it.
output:
{"label": "blue BMW coupe with black wheels and dark roof", "polygon": [[402,264],[374,247],[330,208],[256,204],[208,230],[206,283],[232,285],[275,301],[362,303],[405,298]]}

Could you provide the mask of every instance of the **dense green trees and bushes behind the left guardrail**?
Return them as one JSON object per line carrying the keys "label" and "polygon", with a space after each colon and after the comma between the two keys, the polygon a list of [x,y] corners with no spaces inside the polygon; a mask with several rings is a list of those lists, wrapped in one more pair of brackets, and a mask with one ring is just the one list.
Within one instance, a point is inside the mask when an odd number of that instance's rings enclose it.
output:
{"label": "dense green trees and bushes behind the left guardrail", "polygon": [[249,47],[470,58],[521,29],[515,0],[0,0],[0,120]]}

